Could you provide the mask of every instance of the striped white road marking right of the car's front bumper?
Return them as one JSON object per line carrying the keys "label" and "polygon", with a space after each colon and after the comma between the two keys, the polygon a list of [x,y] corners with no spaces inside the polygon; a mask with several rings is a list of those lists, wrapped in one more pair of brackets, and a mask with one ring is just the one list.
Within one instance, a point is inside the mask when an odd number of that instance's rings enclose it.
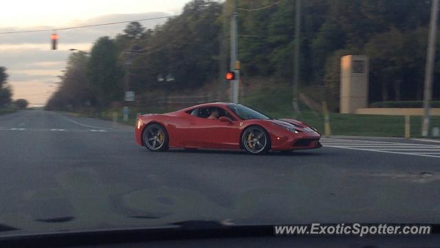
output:
{"label": "striped white road marking right of the car's front bumper", "polygon": [[437,145],[332,138],[322,138],[321,143],[323,146],[342,149],[366,150],[376,153],[393,153],[422,157],[440,157],[440,146]]}

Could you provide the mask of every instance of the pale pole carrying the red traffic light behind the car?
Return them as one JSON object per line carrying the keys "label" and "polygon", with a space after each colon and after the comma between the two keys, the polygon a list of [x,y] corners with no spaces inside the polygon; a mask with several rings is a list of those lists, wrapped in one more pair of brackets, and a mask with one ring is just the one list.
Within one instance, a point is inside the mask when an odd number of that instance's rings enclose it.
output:
{"label": "pale pole carrying the red traffic light behind the car", "polygon": [[230,71],[235,71],[235,80],[231,80],[231,102],[239,102],[239,82],[240,82],[240,63],[238,60],[239,54],[239,36],[237,25],[237,5],[238,0],[234,1],[234,12],[231,16],[231,65]]}

